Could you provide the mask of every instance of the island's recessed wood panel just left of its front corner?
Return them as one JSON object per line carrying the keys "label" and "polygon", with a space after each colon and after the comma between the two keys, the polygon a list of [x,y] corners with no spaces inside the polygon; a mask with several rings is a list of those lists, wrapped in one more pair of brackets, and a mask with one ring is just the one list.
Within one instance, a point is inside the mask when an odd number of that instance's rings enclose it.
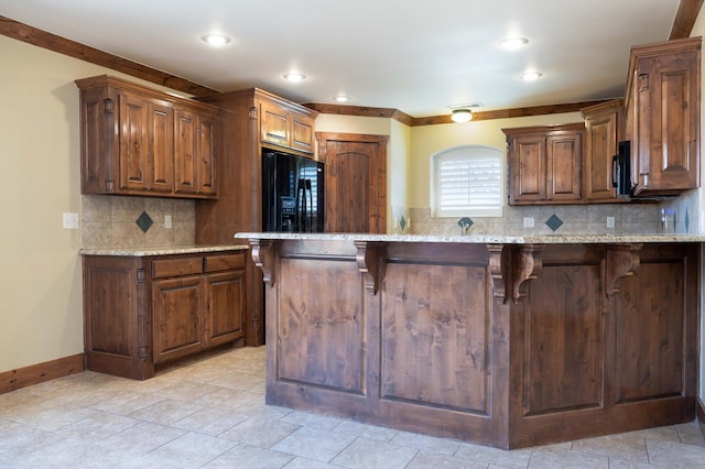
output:
{"label": "island's recessed wood panel just left of its front corner", "polygon": [[387,264],[382,399],[489,413],[488,281],[481,264]]}

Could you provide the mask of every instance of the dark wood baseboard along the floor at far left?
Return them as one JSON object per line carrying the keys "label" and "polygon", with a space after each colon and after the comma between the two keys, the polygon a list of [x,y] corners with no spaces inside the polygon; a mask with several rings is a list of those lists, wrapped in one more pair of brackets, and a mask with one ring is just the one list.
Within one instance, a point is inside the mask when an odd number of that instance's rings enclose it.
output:
{"label": "dark wood baseboard along the floor at far left", "polygon": [[84,371],[84,355],[77,353],[0,373],[0,394]]}

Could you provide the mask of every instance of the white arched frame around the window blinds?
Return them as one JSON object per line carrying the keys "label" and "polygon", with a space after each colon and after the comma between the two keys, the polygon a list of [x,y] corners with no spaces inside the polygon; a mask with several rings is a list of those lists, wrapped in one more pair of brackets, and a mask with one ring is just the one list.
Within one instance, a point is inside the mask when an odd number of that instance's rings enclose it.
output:
{"label": "white arched frame around the window blinds", "polygon": [[[438,170],[437,165],[441,161],[447,157],[459,159],[478,159],[478,157],[492,157],[497,159],[500,166],[500,181],[499,181],[499,205],[496,208],[473,208],[467,207],[457,210],[441,210],[440,204],[440,183],[438,183]],[[464,157],[463,157],[464,156]],[[506,184],[503,184],[502,175],[505,175],[505,152],[500,149],[486,145],[457,145],[443,149],[436,153],[433,153],[430,159],[431,164],[431,216],[435,218],[452,218],[452,217],[476,217],[476,218],[490,218],[501,217],[505,207],[505,194]]]}

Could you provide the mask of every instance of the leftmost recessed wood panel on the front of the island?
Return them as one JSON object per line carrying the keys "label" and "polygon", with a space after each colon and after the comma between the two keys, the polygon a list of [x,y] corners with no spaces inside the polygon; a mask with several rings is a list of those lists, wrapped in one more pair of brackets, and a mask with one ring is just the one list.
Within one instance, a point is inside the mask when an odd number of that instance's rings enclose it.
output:
{"label": "leftmost recessed wood panel on the front of the island", "polygon": [[365,392],[364,286],[355,258],[281,260],[278,380]]}

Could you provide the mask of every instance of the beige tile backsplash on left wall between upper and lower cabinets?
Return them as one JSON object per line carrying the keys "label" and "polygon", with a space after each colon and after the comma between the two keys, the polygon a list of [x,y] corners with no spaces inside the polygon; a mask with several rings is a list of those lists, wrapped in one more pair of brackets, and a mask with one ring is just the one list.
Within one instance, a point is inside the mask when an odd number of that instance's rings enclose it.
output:
{"label": "beige tile backsplash on left wall between upper and lower cabinets", "polygon": [[[86,249],[194,244],[194,200],[83,195],[80,204],[83,247]],[[138,225],[143,214],[152,220],[147,231]],[[166,215],[171,216],[172,228],[165,226]]]}

